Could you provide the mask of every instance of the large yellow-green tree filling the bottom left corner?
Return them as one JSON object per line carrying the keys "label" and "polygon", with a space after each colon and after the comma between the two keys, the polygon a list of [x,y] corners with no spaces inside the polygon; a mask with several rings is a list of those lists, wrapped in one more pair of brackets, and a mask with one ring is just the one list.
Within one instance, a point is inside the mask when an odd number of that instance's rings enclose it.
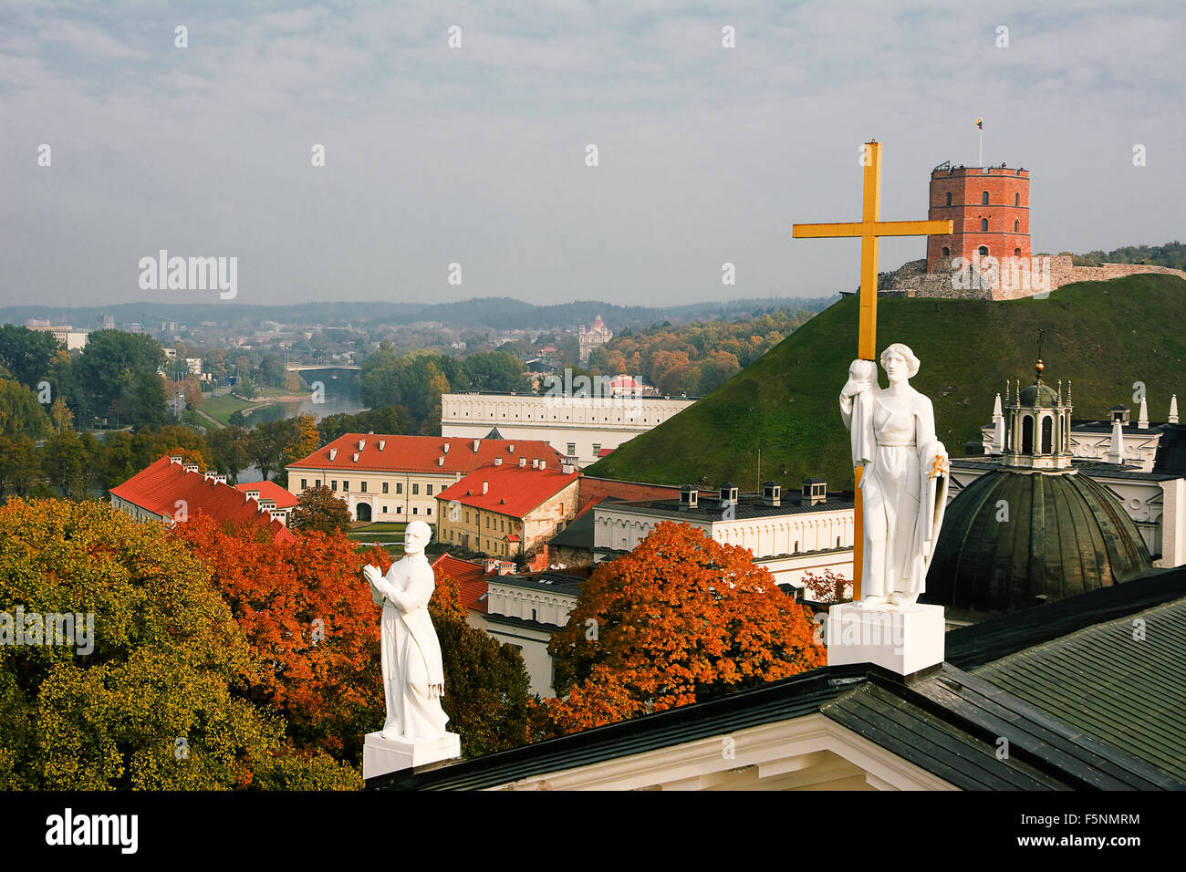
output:
{"label": "large yellow-green tree filling the bottom left corner", "polygon": [[160,526],[94,501],[9,502],[0,612],[18,606],[26,641],[30,615],[91,618],[74,644],[0,645],[0,789],[361,785],[287,746],[282,721],[244,699],[243,676],[266,666],[210,571]]}

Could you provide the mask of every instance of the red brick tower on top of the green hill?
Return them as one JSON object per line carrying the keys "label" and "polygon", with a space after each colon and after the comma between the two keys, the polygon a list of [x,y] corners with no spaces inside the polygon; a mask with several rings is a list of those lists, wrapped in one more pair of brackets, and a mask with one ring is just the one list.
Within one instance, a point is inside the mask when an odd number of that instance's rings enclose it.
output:
{"label": "red brick tower on top of the green hill", "polygon": [[1006,166],[931,170],[927,218],[954,222],[951,235],[926,237],[926,272],[948,272],[955,257],[1029,256],[1029,171]]}

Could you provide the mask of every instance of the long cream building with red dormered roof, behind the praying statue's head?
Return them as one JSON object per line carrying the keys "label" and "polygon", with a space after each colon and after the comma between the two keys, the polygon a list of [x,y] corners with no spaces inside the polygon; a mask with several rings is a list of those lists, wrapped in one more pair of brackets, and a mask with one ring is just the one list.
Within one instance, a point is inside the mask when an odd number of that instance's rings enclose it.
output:
{"label": "long cream building with red dormered roof, behind the praying statue's head", "polygon": [[543,460],[560,469],[560,453],[530,439],[346,433],[289,464],[288,489],[301,494],[327,485],[356,521],[436,520],[436,497],[482,467]]}

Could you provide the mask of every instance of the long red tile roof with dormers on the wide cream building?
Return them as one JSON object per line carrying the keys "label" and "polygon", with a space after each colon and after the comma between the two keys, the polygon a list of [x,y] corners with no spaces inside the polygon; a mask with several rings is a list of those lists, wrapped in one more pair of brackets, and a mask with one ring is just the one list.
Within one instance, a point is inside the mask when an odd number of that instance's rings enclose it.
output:
{"label": "long red tile roof with dormers on the wide cream building", "polygon": [[[363,443],[362,451],[358,450],[359,441]],[[478,443],[477,452],[473,450],[474,441]],[[380,443],[383,443],[382,450]],[[337,453],[331,460],[330,454],[334,451]],[[356,453],[357,460],[355,460]],[[538,439],[474,440],[460,437],[346,433],[308,457],[288,464],[288,469],[467,475],[479,466],[493,465],[496,457],[503,458],[504,464],[517,464],[518,458],[525,457],[530,467],[533,459],[542,458],[556,465],[562,456]]]}

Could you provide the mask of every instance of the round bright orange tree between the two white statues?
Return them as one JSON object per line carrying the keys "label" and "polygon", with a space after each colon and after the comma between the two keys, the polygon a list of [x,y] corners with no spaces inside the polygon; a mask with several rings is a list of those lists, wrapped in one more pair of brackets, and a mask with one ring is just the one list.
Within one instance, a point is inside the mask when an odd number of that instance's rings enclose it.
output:
{"label": "round bright orange tree between the two white statues", "polygon": [[746,548],[687,523],[658,524],[598,565],[548,647],[556,733],[658,712],[825,662],[810,611]]}

